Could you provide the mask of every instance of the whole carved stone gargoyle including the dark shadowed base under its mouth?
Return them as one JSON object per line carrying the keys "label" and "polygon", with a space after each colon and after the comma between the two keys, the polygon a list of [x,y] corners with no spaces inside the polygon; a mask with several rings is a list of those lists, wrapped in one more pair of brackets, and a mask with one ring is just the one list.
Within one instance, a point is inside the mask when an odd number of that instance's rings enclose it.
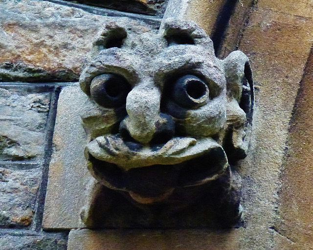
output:
{"label": "whole carved stone gargoyle including the dark shadowed base under its mouth", "polygon": [[253,80],[241,51],[216,58],[198,25],[169,19],[159,33],[106,25],[81,89],[85,155],[97,180],[81,218],[99,227],[232,226],[252,125]]}

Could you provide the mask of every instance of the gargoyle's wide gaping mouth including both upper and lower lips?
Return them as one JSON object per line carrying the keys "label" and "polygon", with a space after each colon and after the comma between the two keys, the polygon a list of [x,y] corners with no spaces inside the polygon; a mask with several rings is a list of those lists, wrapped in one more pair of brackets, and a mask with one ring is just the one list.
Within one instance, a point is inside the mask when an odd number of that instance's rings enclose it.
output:
{"label": "gargoyle's wide gaping mouth including both upper and lower lips", "polygon": [[98,181],[139,203],[168,200],[175,189],[215,180],[228,166],[223,148],[212,138],[177,137],[155,148],[133,144],[118,136],[99,137],[85,153]]}

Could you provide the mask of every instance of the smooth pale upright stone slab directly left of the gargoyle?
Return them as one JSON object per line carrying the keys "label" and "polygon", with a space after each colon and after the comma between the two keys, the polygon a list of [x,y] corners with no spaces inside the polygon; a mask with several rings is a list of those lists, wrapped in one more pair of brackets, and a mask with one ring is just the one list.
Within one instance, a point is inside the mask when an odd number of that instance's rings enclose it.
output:
{"label": "smooth pale upright stone slab directly left of the gargoyle", "polygon": [[89,103],[87,100],[77,83],[63,88],[60,93],[45,199],[44,228],[84,226],[79,214],[87,203],[86,186],[91,178],[84,157],[88,137],[81,125],[81,115],[85,111],[82,107],[90,109],[89,105],[85,105]]}

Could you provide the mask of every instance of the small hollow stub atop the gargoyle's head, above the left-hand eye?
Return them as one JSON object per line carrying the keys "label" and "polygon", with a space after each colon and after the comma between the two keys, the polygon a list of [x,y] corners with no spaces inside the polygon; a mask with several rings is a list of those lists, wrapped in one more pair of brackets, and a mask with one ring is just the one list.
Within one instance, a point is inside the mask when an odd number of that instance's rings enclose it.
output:
{"label": "small hollow stub atop the gargoyle's head, above the left-hand eye", "polygon": [[126,37],[127,32],[123,25],[116,22],[110,22],[97,34],[96,39],[92,44],[92,54],[97,55],[100,50],[113,47],[121,48]]}

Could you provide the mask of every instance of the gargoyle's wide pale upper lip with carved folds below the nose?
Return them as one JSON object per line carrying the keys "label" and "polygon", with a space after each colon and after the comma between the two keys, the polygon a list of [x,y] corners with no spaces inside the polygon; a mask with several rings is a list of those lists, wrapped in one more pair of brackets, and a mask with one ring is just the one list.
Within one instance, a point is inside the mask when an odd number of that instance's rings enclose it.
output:
{"label": "gargoyle's wide pale upper lip with carved folds below the nose", "polygon": [[[88,152],[96,159],[114,163],[127,171],[151,165],[174,165],[223,148],[212,138],[174,137],[155,147],[129,147],[118,135],[99,136],[92,140]],[[224,150],[223,150],[224,151]],[[227,162],[226,155],[224,155]]]}

